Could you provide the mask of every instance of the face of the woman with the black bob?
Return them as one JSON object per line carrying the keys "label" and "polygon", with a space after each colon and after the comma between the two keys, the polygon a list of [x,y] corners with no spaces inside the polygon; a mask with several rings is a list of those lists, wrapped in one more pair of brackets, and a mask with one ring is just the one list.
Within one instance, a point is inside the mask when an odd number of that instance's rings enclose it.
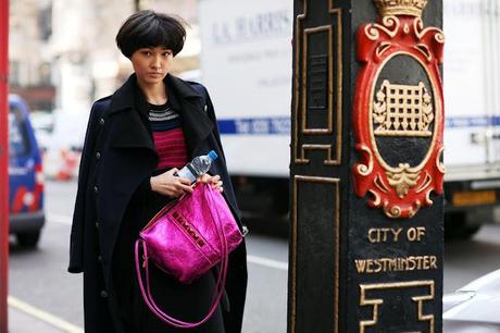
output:
{"label": "face of the woman with the black bob", "polygon": [[132,65],[137,79],[146,85],[155,85],[163,82],[171,67],[174,54],[165,47],[141,48],[132,57]]}

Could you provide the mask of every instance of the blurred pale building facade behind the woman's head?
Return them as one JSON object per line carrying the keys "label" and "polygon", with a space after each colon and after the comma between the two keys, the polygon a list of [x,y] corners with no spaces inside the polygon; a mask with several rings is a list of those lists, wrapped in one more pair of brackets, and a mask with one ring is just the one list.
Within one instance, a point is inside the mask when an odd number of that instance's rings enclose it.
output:
{"label": "blurred pale building facade behind the woman's head", "polygon": [[175,13],[188,23],[176,74],[198,67],[198,0],[18,0],[10,9],[11,91],[34,110],[79,112],[112,94],[133,72],[115,36],[137,8]]}

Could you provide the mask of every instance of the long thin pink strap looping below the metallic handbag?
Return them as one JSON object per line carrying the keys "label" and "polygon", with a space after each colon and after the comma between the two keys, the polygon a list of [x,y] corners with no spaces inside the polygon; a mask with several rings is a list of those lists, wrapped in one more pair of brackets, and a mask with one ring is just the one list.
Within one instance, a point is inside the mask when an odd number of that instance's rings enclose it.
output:
{"label": "long thin pink strap looping below the metallic handbag", "polygon": [[[210,185],[207,185],[207,187],[209,188],[210,192],[213,190]],[[210,193],[210,195],[207,195],[207,193],[205,193],[204,196],[205,196],[205,198],[210,197],[210,205],[212,206],[213,205],[212,194]],[[164,212],[164,211],[166,211],[166,207],[165,207],[165,209],[161,210],[161,212]],[[136,271],[137,271],[137,279],[139,281],[139,287],[140,287],[140,292],[142,294],[142,298],[145,299],[145,303],[147,304],[149,309],[154,314],[157,314],[158,318],[160,318],[162,321],[164,321],[165,323],[167,323],[167,324],[170,324],[170,325],[172,325],[174,328],[193,329],[193,328],[197,328],[197,326],[205,323],[212,317],[214,311],[216,310],[216,308],[218,306],[218,303],[221,301],[222,295],[224,294],[224,285],[226,283],[227,266],[228,266],[228,257],[229,257],[228,249],[227,249],[227,239],[226,239],[226,236],[225,236],[225,234],[224,234],[224,232],[223,232],[223,230],[221,227],[221,223],[220,223],[221,217],[218,214],[218,210],[216,212],[217,219],[214,219],[213,210],[210,210],[210,213],[212,215],[212,220],[214,221],[215,229],[217,230],[218,239],[220,239],[220,242],[222,244],[222,260],[221,260],[221,270],[218,272],[217,282],[216,282],[216,284],[214,286],[214,289],[213,289],[214,297],[213,297],[212,305],[210,306],[208,314],[202,320],[200,320],[198,322],[182,321],[179,319],[176,319],[176,318],[174,318],[172,316],[166,314],[165,312],[163,312],[158,307],[158,305],[154,303],[154,299],[153,299],[153,297],[151,295],[151,291],[150,291],[149,268],[148,268],[148,261],[149,261],[148,260],[149,259],[148,258],[148,249],[147,249],[147,246],[146,246],[146,244],[145,244],[145,242],[142,239],[137,239],[136,240],[136,245],[135,245]],[[139,245],[140,244],[142,244],[142,250],[143,250],[143,257],[145,257],[143,264],[145,264],[145,271],[146,271],[146,287],[143,285],[142,275],[140,273],[140,264],[139,264]]]}

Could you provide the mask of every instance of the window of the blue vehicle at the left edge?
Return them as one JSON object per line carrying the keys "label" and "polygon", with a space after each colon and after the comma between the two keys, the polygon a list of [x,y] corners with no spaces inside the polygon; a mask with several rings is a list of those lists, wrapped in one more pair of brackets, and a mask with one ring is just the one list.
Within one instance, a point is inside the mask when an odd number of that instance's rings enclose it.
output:
{"label": "window of the blue vehicle at the left edge", "polygon": [[25,119],[21,110],[9,108],[9,157],[22,157],[29,153],[29,140]]}

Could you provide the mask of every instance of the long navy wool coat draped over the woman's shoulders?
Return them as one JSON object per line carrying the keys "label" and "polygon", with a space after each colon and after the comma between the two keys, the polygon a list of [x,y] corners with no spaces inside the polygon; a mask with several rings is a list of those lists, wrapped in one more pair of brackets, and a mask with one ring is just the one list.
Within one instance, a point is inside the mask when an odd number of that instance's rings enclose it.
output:
{"label": "long navy wool coat draped over the woman's shoulders", "polygon": [[[224,197],[241,227],[207,89],[170,74],[165,84],[168,99],[175,101],[182,119],[188,158],[215,150],[220,158],[212,164],[210,173],[221,175]],[[85,331],[88,333],[128,332],[130,330],[123,322],[124,316],[128,314],[123,307],[128,308],[130,316],[143,311],[143,305],[137,306],[137,295],[127,296],[132,293],[127,288],[133,288],[134,283],[137,286],[132,245],[138,231],[152,218],[152,211],[143,207],[151,196],[159,195],[152,193],[149,185],[158,164],[158,153],[143,111],[147,104],[141,96],[133,74],[112,96],[96,101],[90,112],[79,169],[68,266],[70,272],[84,273]],[[177,289],[173,280],[164,279],[162,283]],[[225,333],[241,331],[246,288],[243,242],[229,256],[225,306],[221,307]],[[166,299],[167,312],[192,321],[205,314],[208,305],[198,310],[192,306],[198,304],[196,297],[200,297],[189,295],[199,294],[192,289],[196,287],[178,286],[178,293]],[[155,298],[161,298],[159,294],[153,291]],[[164,328],[163,332],[177,332]]]}

